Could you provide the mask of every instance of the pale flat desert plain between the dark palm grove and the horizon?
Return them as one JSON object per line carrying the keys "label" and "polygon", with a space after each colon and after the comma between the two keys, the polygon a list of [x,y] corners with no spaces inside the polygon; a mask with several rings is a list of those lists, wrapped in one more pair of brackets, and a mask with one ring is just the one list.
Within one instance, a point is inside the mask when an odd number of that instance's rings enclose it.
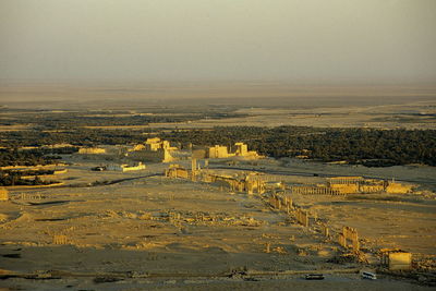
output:
{"label": "pale flat desert plain between the dark palm grove and the horizon", "polygon": [[[171,112],[207,112],[210,108],[246,114],[242,118],[204,119],[150,128],[211,128],[217,125],[320,128],[436,129],[434,84],[399,85],[295,85],[286,83],[143,83],[143,84],[2,84],[0,121],[26,110],[124,110],[132,114],[150,109]],[[3,107],[1,107],[3,106]],[[137,110],[142,111],[137,111]],[[187,111],[186,111],[187,110]],[[191,111],[190,111],[191,110]],[[199,110],[199,111],[198,111]],[[47,113],[47,112],[46,112]],[[111,116],[116,112],[109,112]],[[166,113],[168,114],[168,113]],[[178,113],[175,113],[178,114]],[[28,124],[3,125],[24,130]],[[142,130],[148,125],[93,126]]]}

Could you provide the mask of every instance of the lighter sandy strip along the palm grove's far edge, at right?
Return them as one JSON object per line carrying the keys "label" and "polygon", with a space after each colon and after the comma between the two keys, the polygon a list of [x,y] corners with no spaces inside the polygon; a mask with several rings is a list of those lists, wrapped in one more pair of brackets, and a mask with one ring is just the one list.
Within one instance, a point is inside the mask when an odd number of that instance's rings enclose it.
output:
{"label": "lighter sandy strip along the palm grove's far edge, at right", "polygon": [[[435,101],[401,105],[311,107],[307,109],[246,108],[243,118],[153,123],[150,128],[207,129],[213,126],[315,126],[374,129],[436,129]],[[101,128],[105,129],[105,128]]]}

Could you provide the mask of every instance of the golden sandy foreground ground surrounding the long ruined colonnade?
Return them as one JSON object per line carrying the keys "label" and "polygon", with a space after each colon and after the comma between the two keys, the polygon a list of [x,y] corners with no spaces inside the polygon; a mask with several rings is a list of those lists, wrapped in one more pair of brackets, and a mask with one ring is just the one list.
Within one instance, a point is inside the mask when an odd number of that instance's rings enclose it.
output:
{"label": "golden sandy foreground ground surrounding the long ruined colonnade", "polygon": [[[90,167],[100,161],[83,160],[77,155],[69,159],[74,165],[62,179],[77,186],[14,190],[10,202],[0,204],[0,268],[41,277],[50,271],[53,278],[11,278],[0,281],[0,287],[25,290],[425,289],[387,276],[379,276],[373,282],[362,280],[359,274],[348,274],[349,268],[374,269],[375,265],[335,263],[341,251],[335,241],[320,235],[316,225],[304,229],[292,217],[269,208],[256,195],[229,193],[213,184],[156,175],[166,167],[161,163],[131,173],[92,172]],[[264,160],[257,166],[243,163],[226,171],[240,172],[237,167],[254,167],[269,171],[270,179],[275,177],[274,171],[281,171],[276,179],[286,179],[287,183],[323,181],[323,168],[320,175],[311,177],[304,171],[308,173],[317,165],[299,162]],[[342,169],[343,166],[331,167]],[[350,174],[353,174],[350,169],[363,171],[349,167]],[[415,169],[416,175],[420,169]],[[114,180],[122,181],[87,185]],[[436,254],[436,204],[434,195],[426,193],[397,197],[397,201],[382,196],[292,198],[316,213],[318,219],[331,223],[332,229],[343,225],[358,228],[365,250],[399,246],[414,255],[432,257]],[[22,194],[27,195],[25,199]],[[66,235],[65,245],[53,244],[57,234]],[[370,259],[376,259],[367,252]],[[277,275],[289,270],[293,272]],[[251,276],[251,271],[266,275]],[[268,275],[271,271],[277,274]],[[326,271],[332,274],[326,274],[323,282],[302,279],[305,272]],[[101,282],[108,278],[113,281]]]}

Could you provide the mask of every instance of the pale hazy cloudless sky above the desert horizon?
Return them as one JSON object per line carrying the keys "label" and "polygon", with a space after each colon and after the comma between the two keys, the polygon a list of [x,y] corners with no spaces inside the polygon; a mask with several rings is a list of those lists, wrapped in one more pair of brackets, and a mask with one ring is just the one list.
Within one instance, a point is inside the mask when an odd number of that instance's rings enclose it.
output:
{"label": "pale hazy cloudless sky above the desert horizon", "polygon": [[0,0],[0,78],[436,81],[436,0]]}

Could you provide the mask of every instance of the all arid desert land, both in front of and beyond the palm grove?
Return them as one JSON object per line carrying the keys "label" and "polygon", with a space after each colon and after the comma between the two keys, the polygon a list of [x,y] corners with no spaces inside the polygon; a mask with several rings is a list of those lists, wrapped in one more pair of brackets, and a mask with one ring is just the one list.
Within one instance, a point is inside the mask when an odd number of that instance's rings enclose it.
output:
{"label": "all arid desert land, both in front of and beyond the palm grove", "polygon": [[[199,98],[207,92],[203,87],[117,88],[57,87],[49,90],[46,100],[31,102],[32,96],[43,95],[41,87],[28,86],[21,90],[2,87],[0,100],[4,107],[0,112],[0,131],[35,131],[45,138],[50,126],[52,132],[60,133],[77,128],[93,129],[100,130],[99,134],[110,140],[110,134],[105,135],[106,130],[121,129],[137,131],[145,141],[148,136],[158,136],[159,131],[217,125],[436,129],[435,95],[428,87],[419,94],[389,87],[373,90],[300,87],[289,93],[289,86],[228,85],[210,89],[208,98]],[[57,101],[57,94],[63,96],[66,90],[71,95],[64,96],[64,102]],[[130,104],[114,99],[120,90]],[[317,99],[319,92],[325,95]],[[335,92],[340,94],[331,97]],[[74,99],[78,93],[93,98],[87,102]],[[17,94],[23,98],[15,99]],[[232,94],[240,97],[234,102],[229,101]],[[268,104],[266,94],[277,98]],[[361,94],[366,94],[368,99],[353,99]],[[382,98],[396,94],[398,99]],[[183,96],[192,98],[183,104],[178,99]],[[255,97],[253,101],[250,96]],[[293,105],[293,98],[300,101]],[[280,100],[286,104],[281,106]],[[234,116],[222,113],[227,109]],[[205,110],[214,118],[202,116]],[[68,119],[60,118],[62,114],[71,114],[72,122],[66,123]],[[85,124],[86,120],[77,114],[105,119],[98,120],[98,124]],[[38,123],[41,117],[46,124]],[[149,117],[159,121],[142,124],[135,120]],[[166,121],[167,118],[171,121]],[[183,120],[174,121],[175,118]],[[106,119],[122,122],[107,124]],[[82,123],[76,125],[74,121]],[[63,123],[56,128],[57,122]],[[3,142],[20,142],[21,150],[34,146],[21,140]],[[65,141],[57,141],[62,142]],[[58,184],[5,187],[9,201],[0,202],[1,288],[431,290],[435,287],[436,174],[432,166],[368,168],[290,157],[209,159],[206,165],[204,159],[198,159],[203,171],[208,173],[242,177],[255,172],[271,186],[265,193],[247,194],[218,183],[164,174],[171,163],[191,169],[190,159],[144,161],[146,169],[131,172],[92,170],[120,162],[122,156],[118,145],[99,146],[116,148],[111,151],[116,154],[111,157],[58,153],[60,159],[55,169],[66,170],[50,177]],[[331,177],[393,179],[413,191],[348,195],[303,195],[290,191],[293,185],[325,184]],[[295,213],[288,214],[270,205],[268,197],[277,183],[284,185],[284,195],[295,207],[310,214],[308,227],[298,222]],[[330,237],[323,234],[324,225],[329,226]],[[360,256],[338,244],[336,235],[346,226],[359,231]],[[417,269],[384,271],[379,264],[382,248],[412,253]],[[376,272],[377,280],[362,279],[365,270]],[[323,274],[325,279],[305,280],[308,274]]]}

